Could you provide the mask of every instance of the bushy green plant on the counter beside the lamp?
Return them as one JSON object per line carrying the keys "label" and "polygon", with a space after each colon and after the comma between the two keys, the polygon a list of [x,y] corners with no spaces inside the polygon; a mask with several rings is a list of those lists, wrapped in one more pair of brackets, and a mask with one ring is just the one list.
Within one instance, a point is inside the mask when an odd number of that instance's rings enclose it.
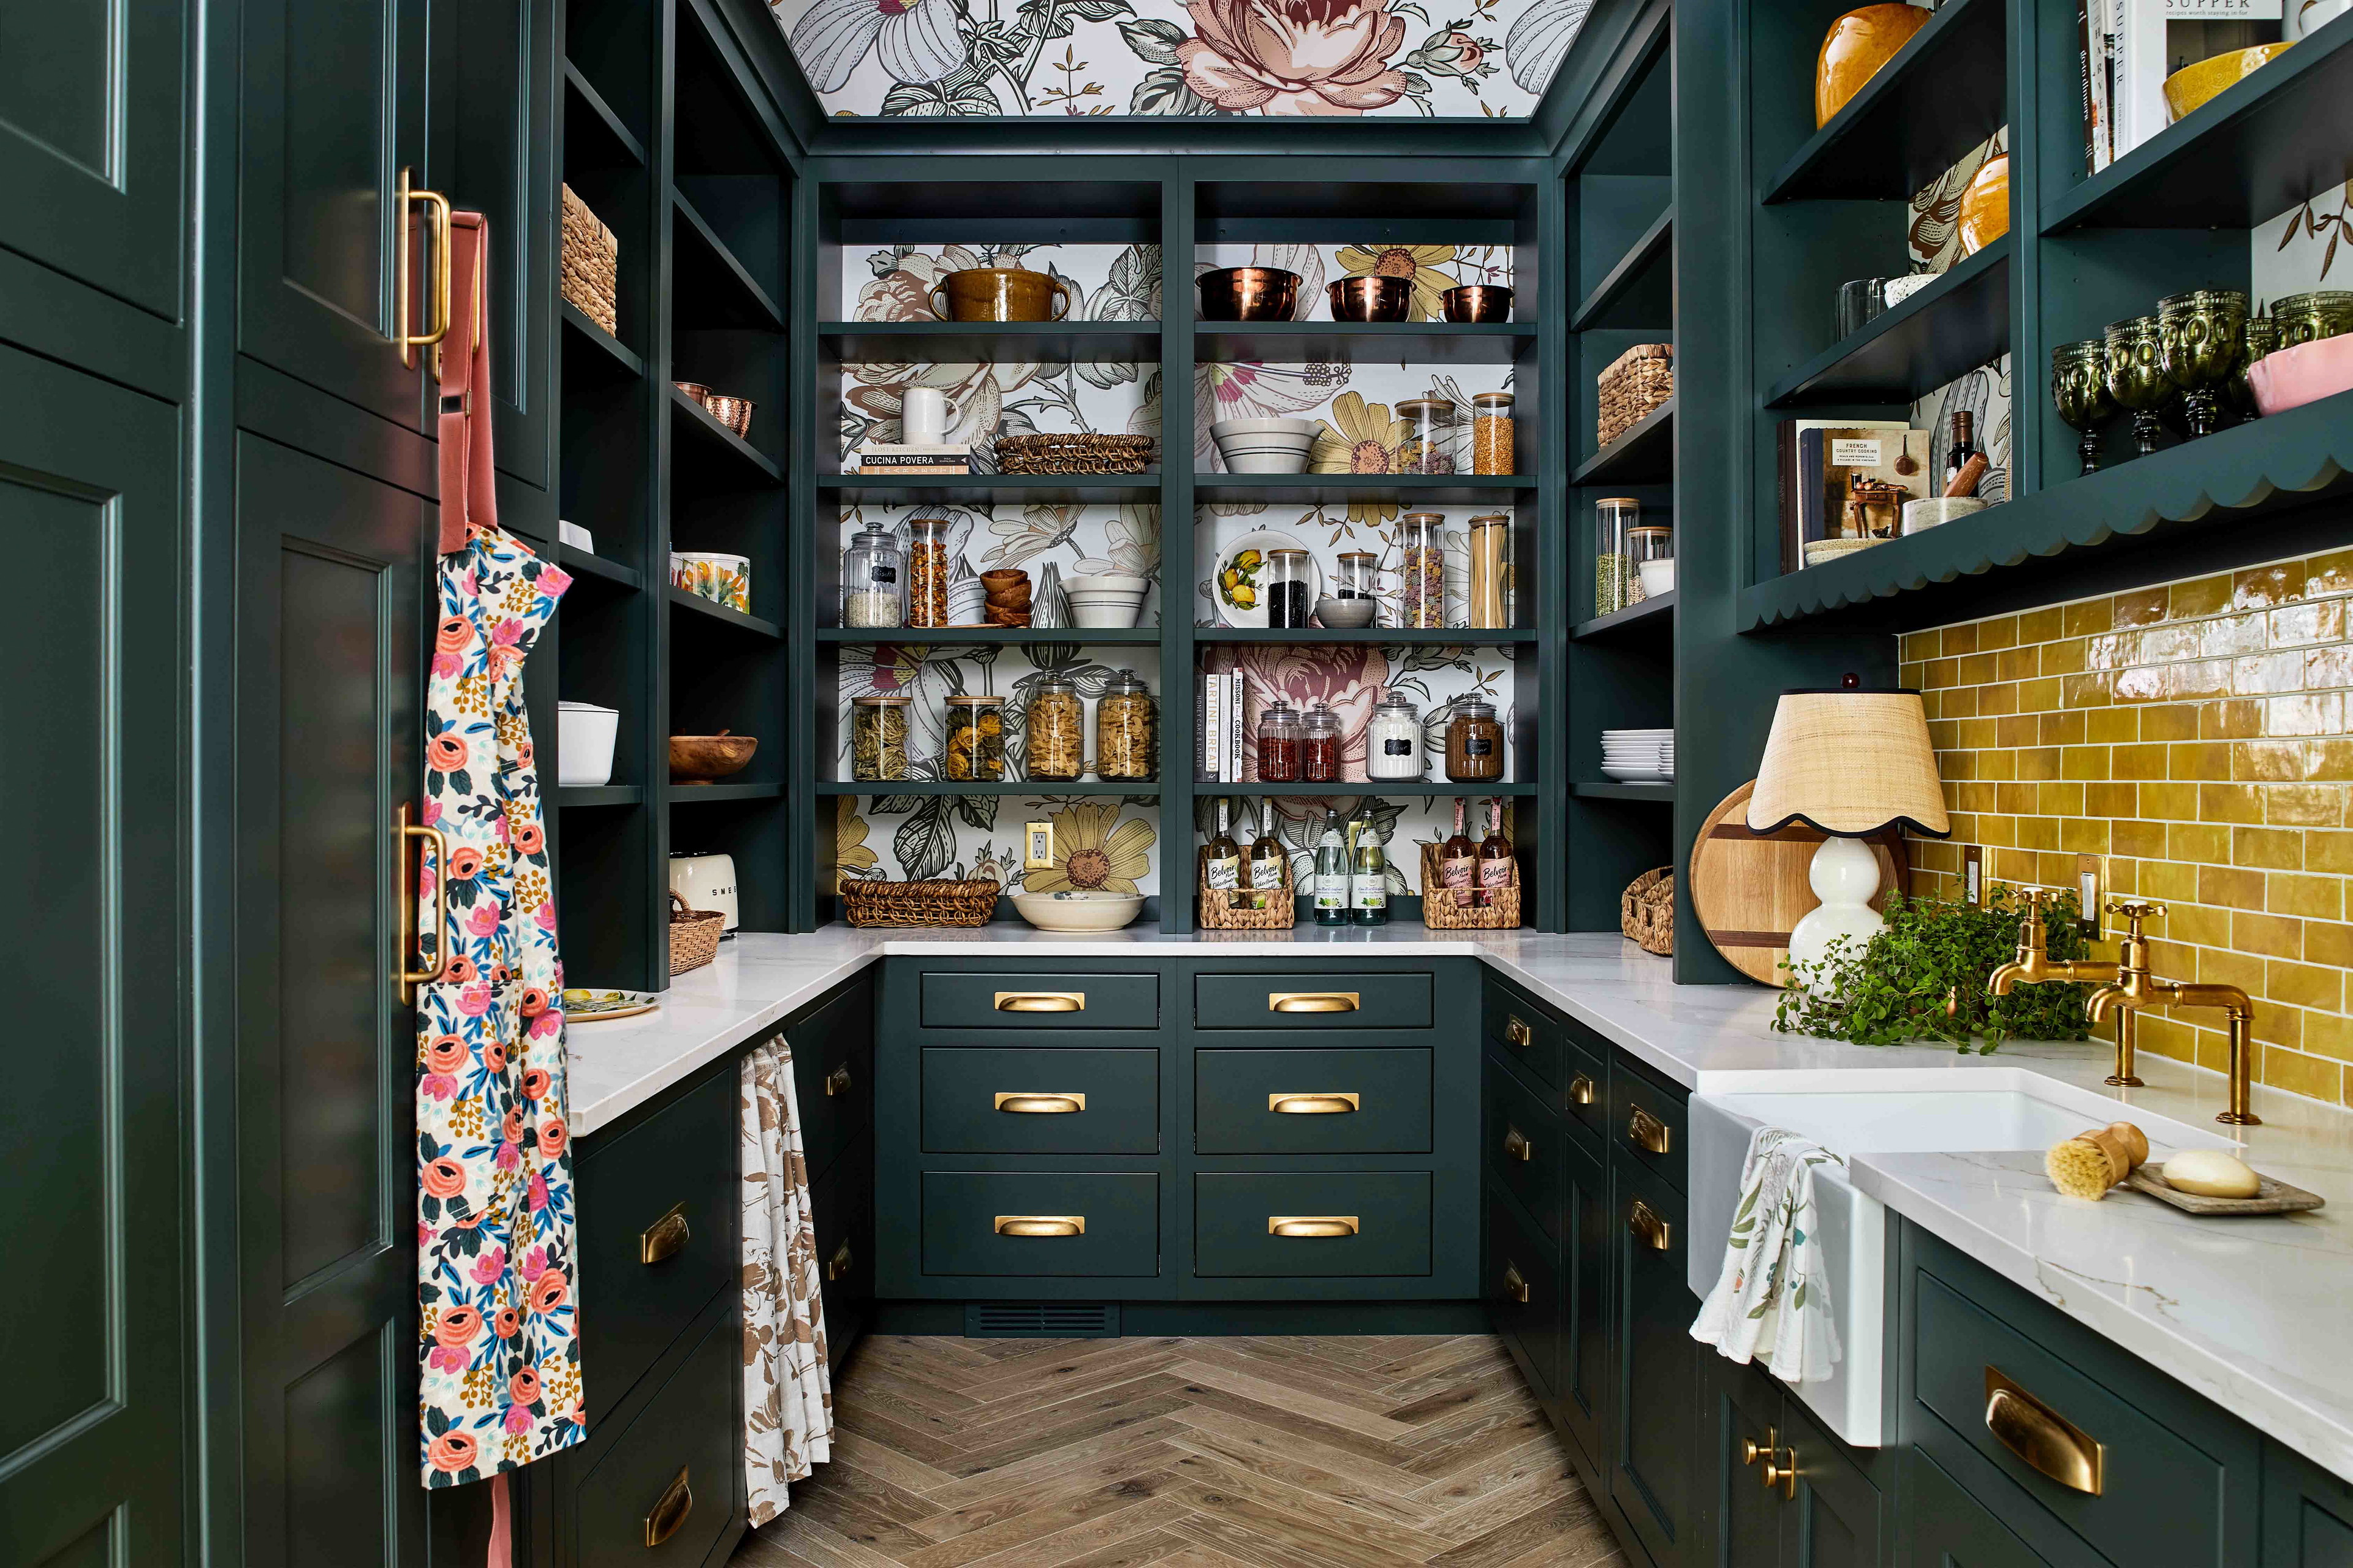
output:
{"label": "bushy green plant on the counter beside the lamp", "polygon": [[[1986,903],[1887,896],[1887,926],[1852,957],[1835,938],[1819,964],[1793,966],[1774,1030],[1894,1046],[1908,1039],[1951,1041],[1955,1051],[1991,1053],[2005,1039],[2085,1039],[2087,985],[2045,980],[2017,985],[2007,997],[1986,990],[1998,964],[2017,957],[2024,900],[1995,886]],[[2075,926],[2075,896],[2057,893],[2045,907],[2052,959],[2089,957]],[[1979,1044],[1984,1041],[1984,1044]]]}

